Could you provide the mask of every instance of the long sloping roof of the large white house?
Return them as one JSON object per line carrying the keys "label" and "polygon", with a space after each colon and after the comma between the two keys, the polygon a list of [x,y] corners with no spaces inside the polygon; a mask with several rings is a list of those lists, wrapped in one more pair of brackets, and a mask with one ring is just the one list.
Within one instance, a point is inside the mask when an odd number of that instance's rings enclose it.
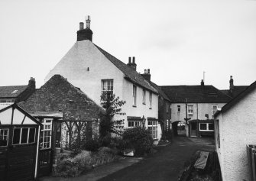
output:
{"label": "long sloping roof of the large white house", "polygon": [[139,74],[136,70],[132,69],[121,60],[118,60],[110,53],[103,50],[101,47],[98,47],[96,44],[94,45],[109,61],[111,61],[118,69],[122,71],[122,73],[125,74],[126,79],[129,79],[131,82],[138,84],[138,86],[142,86],[145,89],[150,90],[151,92],[158,93],[157,90],[154,89],[154,87],[151,86],[151,84],[147,82],[147,80],[144,79],[144,77],[141,76],[141,74]]}

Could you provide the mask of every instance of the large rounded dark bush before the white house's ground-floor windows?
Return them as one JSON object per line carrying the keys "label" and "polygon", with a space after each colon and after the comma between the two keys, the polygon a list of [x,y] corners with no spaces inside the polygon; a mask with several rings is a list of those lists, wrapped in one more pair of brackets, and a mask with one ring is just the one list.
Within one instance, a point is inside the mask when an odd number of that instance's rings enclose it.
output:
{"label": "large rounded dark bush before the white house's ground-floor windows", "polygon": [[126,142],[125,148],[135,149],[135,155],[141,156],[151,151],[153,139],[145,128],[128,128],[123,133],[123,140]]}

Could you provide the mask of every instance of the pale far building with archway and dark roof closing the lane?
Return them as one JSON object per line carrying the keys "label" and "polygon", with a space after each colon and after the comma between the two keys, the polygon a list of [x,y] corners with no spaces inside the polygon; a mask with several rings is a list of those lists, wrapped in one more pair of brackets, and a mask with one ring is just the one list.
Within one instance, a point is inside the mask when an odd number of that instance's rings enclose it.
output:
{"label": "pale far building with archway and dark roof closing the lane", "polygon": [[214,86],[204,85],[203,80],[200,86],[160,87],[172,102],[170,107],[174,134],[177,134],[177,124],[184,122],[187,136],[213,137],[213,115],[231,97]]}

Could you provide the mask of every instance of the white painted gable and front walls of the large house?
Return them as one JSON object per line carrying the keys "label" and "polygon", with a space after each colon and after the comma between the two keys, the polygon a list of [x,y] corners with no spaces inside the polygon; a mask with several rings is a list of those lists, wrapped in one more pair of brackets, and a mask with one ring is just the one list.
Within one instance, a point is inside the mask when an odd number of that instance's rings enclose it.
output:
{"label": "white painted gable and front walls of the large house", "polygon": [[133,84],[124,79],[124,73],[112,64],[89,40],[76,42],[60,62],[50,70],[45,82],[55,74],[60,74],[73,86],[79,87],[98,105],[100,105],[102,79],[113,79],[115,95],[126,101],[126,104],[122,106],[122,112],[125,112],[126,115],[115,116],[115,119],[125,119],[125,128],[128,127],[127,116],[142,118],[144,115],[144,118],[158,118],[158,95],[152,94],[152,108],[149,108],[149,92],[146,91],[146,105],[143,105],[143,89],[137,86],[137,105],[133,107]]}

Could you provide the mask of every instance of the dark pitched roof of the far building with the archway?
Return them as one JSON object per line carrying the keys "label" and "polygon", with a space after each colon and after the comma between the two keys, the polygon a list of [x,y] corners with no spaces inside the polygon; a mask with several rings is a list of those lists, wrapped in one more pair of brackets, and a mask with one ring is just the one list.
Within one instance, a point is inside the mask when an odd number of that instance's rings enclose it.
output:
{"label": "dark pitched roof of the far building with the archway", "polygon": [[226,103],[231,97],[214,86],[160,86],[171,102]]}

